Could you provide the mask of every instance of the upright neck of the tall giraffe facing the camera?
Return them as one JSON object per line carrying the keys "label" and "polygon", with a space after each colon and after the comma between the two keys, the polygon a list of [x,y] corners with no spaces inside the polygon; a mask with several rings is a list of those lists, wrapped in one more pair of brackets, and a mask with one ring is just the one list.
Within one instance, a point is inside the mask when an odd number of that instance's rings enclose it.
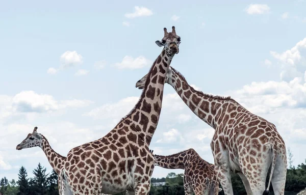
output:
{"label": "upright neck of the tall giraffe facing the camera", "polygon": [[[157,128],[162,108],[165,77],[173,56],[174,54],[168,55],[165,48],[162,50],[147,74],[138,103],[130,114],[121,120],[121,123],[131,127],[126,134],[136,134],[137,136],[130,138],[137,140],[138,143],[144,142],[149,146]],[[120,127],[120,123],[117,126]]]}

